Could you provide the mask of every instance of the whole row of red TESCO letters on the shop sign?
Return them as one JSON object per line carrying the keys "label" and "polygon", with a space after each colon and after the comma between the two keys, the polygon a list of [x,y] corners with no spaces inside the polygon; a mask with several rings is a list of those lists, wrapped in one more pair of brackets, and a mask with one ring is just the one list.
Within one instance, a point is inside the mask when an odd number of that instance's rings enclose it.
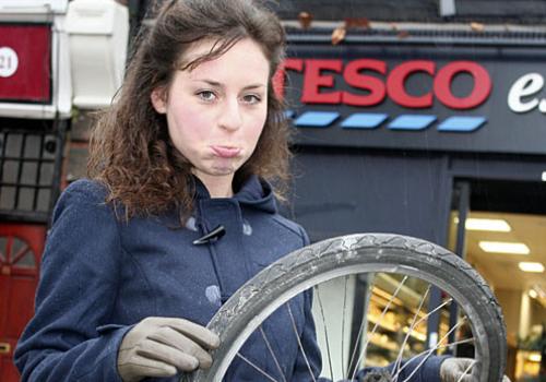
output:
{"label": "whole row of red TESCO letters on the shop sign", "polygon": [[[286,70],[304,74],[300,99],[302,104],[375,106],[389,96],[400,106],[419,109],[431,107],[436,97],[448,108],[472,109],[482,105],[491,92],[489,73],[474,61],[453,61],[437,69],[434,61],[411,60],[388,71],[385,61],[375,59],[358,59],[348,62],[336,59],[287,59],[275,79],[276,88],[281,95],[282,91],[278,89],[283,86],[278,85],[284,82]],[[365,71],[378,75],[364,74]],[[406,80],[417,72],[426,73],[434,79],[432,88],[422,96],[408,94],[405,87]],[[334,73],[343,75],[345,83],[351,87],[364,89],[367,94],[336,91]],[[460,73],[467,73],[474,80],[472,92],[464,97],[458,97],[451,92],[451,84]]]}

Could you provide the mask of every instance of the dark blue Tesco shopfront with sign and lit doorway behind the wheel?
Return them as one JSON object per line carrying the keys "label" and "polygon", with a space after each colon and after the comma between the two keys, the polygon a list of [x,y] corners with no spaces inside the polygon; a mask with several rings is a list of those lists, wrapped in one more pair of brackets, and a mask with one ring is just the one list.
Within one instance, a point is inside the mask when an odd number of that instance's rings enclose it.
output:
{"label": "dark blue Tesco shopfront with sign and lit doorway behind the wheel", "polygon": [[[543,43],[412,31],[355,32],[333,45],[329,33],[294,29],[280,79],[295,127],[288,213],[312,240],[396,232],[464,256],[502,306],[518,378],[538,373],[546,320]],[[529,250],[486,252],[487,241]]]}

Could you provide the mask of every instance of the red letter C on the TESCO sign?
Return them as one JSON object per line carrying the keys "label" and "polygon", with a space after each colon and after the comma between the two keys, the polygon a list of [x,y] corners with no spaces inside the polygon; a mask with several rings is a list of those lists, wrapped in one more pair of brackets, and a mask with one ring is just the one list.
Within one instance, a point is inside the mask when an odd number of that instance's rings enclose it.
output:
{"label": "red letter C on the TESCO sign", "polygon": [[426,72],[435,74],[436,64],[432,61],[416,60],[404,62],[391,71],[387,80],[387,91],[389,97],[400,106],[411,108],[425,108],[432,106],[432,92],[420,97],[407,94],[404,83],[406,79],[415,72]]}

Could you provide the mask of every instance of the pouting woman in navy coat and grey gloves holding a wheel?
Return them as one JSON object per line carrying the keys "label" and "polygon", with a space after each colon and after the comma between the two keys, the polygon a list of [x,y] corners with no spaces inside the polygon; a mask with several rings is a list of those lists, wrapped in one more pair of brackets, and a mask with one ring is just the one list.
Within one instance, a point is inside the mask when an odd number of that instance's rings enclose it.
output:
{"label": "pouting woman in navy coat and grey gloves holding a wheel", "polygon": [[[36,313],[15,353],[23,381],[177,381],[206,368],[218,346],[204,327],[212,315],[309,242],[277,214],[271,187],[286,180],[289,156],[272,87],[283,49],[278,20],[254,1],[163,7],[94,130],[91,179],[54,212]],[[310,308],[306,293],[275,312],[226,380],[318,375]],[[418,375],[438,379],[441,360]]]}

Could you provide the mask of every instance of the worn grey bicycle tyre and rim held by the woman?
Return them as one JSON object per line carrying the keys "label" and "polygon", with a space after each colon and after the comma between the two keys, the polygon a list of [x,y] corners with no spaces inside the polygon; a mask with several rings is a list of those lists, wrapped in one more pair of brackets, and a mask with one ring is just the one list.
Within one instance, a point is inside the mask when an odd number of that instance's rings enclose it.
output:
{"label": "worn grey bicycle tyre and rim held by the woman", "polygon": [[[294,296],[297,296],[301,291],[311,287],[314,288],[317,285],[330,282],[332,279],[336,279],[339,277],[347,277],[348,275],[363,274],[363,273],[368,273],[368,274],[389,273],[389,274],[402,274],[405,276],[417,277],[419,279],[427,282],[430,285],[440,287],[443,291],[448,293],[449,296],[451,296],[460,306],[464,307],[465,314],[467,317],[468,322],[471,323],[472,332],[474,335],[474,345],[476,348],[475,360],[477,361],[477,365],[480,370],[479,380],[492,381],[489,379],[490,377],[494,377],[489,375],[490,369],[492,367],[491,360],[495,359],[495,357],[497,358],[500,357],[501,359],[497,360],[497,363],[501,365],[502,368],[505,365],[503,363],[505,349],[502,348],[503,346],[502,335],[505,333],[503,332],[505,329],[499,312],[495,311],[498,310],[498,306],[494,303],[495,301],[491,301],[490,291],[488,291],[487,287],[484,285],[483,279],[480,279],[480,277],[476,278],[475,275],[473,275],[473,277],[466,277],[472,282],[472,285],[470,286],[471,288],[472,287],[478,288],[480,290],[486,291],[484,296],[480,296],[478,300],[475,300],[476,294],[467,296],[465,294],[465,290],[470,289],[462,289],[460,286],[459,287],[453,286],[450,279],[448,278],[449,275],[447,275],[446,272],[443,273],[439,272],[438,274],[435,274],[434,272],[424,271],[423,268],[415,266],[415,265],[424,265],[426,264],[426,262],[434,264],[435,261],[440,260],[440,262],[437,265],[437,268],[435,268],[434,265],[431,265],[430,268],[441,271],[441,266],[444,265],[444,262],[441,262],[443,259],[438,258],[438,255],[450,254],[446,250],[437,246],[430,244],[428,242],[425,242],[423,240],[400,237],[400,236],[392,236],[392,235],[383,235],[383,236],[373,235],[372,237],[375,239],[379,237],[381,239],[389,239],[391,241],[392,238],[396,239],[402,238],[403,240],[413,240],[413,242],[417,243],[417,246],[414,246],[413,250],[400,247],[389,247],[388,244],[385,244],[389,242],[389,240],[383,240],[383,243],[381,246],[378,247],[377,244],[375,244],[371,248],[368,247],[356,248],[351,244],[351,242],[358,242],[361,241],[363,238],[367,237],[369,237],[369,235],[342,237],[336,239],[330,239],[322,243],[317,243],[313,246],[313,249],[311,249],[310,253],[307,252],[307,258],[309,256],[312,258],[313,253],[317,251],[321,253],[321,256],[316,256],[314,259],[311,259],[310,262],[299,260],[300,258],[306,258],[306,249],[296,251],[295,253],[285,258],[282,261],[283,264],[281,265],[272,264],[270,267],[262,271],[260,275],[258,275],[252,280],[247,283],[241,289],[239,289],[239,291],[236,295],[234,295],[234,297],[232,298],[233,300],[230,299],[230,301],[228,301],[222,308],[222,311],[218,311],[218,313],[213,318],[213,320],[209,325],[211,330],[221,333],[221,338],[223,339],[223,343],[228,344],[229,346],[221,347],[213,354],[215,361],[211,370],[209,371],[200,370],[193,375],[191,375],[190,380],[221,381],[222,377],[225,374],[233,359],[235,359],[236,357],[244,358],[241,357],[241,355],[238,355],[238,349],[240,348],[240,346],[242,346],[242,344],[251,335],[251,333],[254,332],[256,330],[260,330],[260,324],[263,322],[263,320],[265,320],[265,318],[268,318],[276,309],[283,307]],[[329,252],[328,249],[329,246],[331,246],[332,242],[335,240],[341,240],[341,242],[343,243],[341,247],[339,246],[341,249],[337,248],[336,250]],[[415,248],[418,248],[419,246],[432,246],[430,248],[427,248],[426,251],[428,251],[427,253],[429,254],[434,253],[435,255],[430,256],[430,259],[428,259],[427,256],[423,256],[417,262],[415,261],[415,259],[408,258],[410,259],[407,261],[408,264],[404,264],[403,263],[404,256],[414,255]],[[324,247],[327,249],[324,249]],[[390,259],[389,256],[393,258],[394,260]],[[332,259],[335,260],[332,261]],[[424,259],[426,259],[426,261]],[[306,270],[309,271],[309,268],[312,268],[313,266],[316,267],[321,266],[320,264],[321,260],[330,262],[325,268],[322,268],[317,274],[312,272],[306,272]],[[455,265],[458,266],[467,266],[467,264],[461,262],[459,259],[450,260],[450,262],[453,261],[456,263]],[[293,273],[299,272],[300,276],[283,280],[282,277],[283,271],[280,271],[282,266],[292,270]],[[462,273],[463,276],[465,275],[467,276],[468,268],[462,270]],[[275,274],[276,276],[272,276]],[[256,278],[261,278],[260,282],[262,284],[260,284],[261,286],[259,288],[257,288],[256,286],[257,285],[254,283]],[[270,279],[268,280],[268,278]],[[277,286],[271,288],[270,290],[264,290],[263,288],[264,279],[265,279],[265,285],[268,283],[276,283]],[[278,279],[281,279],[281,282]],[[393,297],[395,297],[395,295],[393,295]],[[480,301],[479,299],[482,299],[483,301]],[[320,298],[318,300],[320,301]],[[241,303],[241,301],[244,301],[245,303]],[[314,302],[317,302],[317,299]],[[487,307],[487,305],[490,305],[490,307]],[[495,317],[496,320],[495,321],[496,329],[494,330],[494,332],[498,331],[499,327],[501,329],[500,341],[498,341],[498,343],[495,344],[495,348],[490,346],[489,343],[491,338],[494,339],[495,335],[498,335],[498,333],[491,333],[491,329],[486,327],[487,322],[483,317],[484,315],[483,310],[484,309],[487,310],[488,308],[494,311],[492,315]],[[245,314],[246,309],[253,309],[254,311],[257,310],[257,313],[253,315],[252,319],[249,320],[249,322],[246,325],[241,325],[240,322],[238,324],[232,324],[233,321],[232,319],[239,317],[240,314]],[[450,327],[450,330],[455,331],[458,330],[458,327],[459,326]],[[366,331],[365,333],[367,333],[367,335],[365,336],[365,338],[372,336],[375,330],[376,329],[371,330],[371,335],[368,331]],[[407,333],[407,335],[410,334],[411,333]],[[407,337],[405,337],[404,342],[406,341]],[[369,339],[364,339],[364,343],[368,345]],[[401,348],[401,350],[399,351],[400,355],[403,354],[404,345],[405,343],[402,343],[402,345],[400,346]],[[500,348],[498,348],[499,346]],[[352,355],[351,358],[353,358],[354,360],[351,363],[355,365],[361,363],[360,359],[363,358],[363,354],[366,355],[367,347],[364,346],[364,349],[358,350],[357,353],[358,353],[357,357],[355,357],[355,355]],[[343,355],[344,351],[342,351],[342,357]],[[348,362],[348,360],[345,360],[345,363],[346,362]],[[332,362],[329,359],[327,363],[331,365]],[[327,366],[325,368],[328,369]],[[330,371],[327,370],[327,375],[328,373],[334,374],[331,370]],[[353,377],[353,375],[349,375],[347,372],[343,375],[343,378],[345,377]],[[495,379],[497,377],[495,377]],[[276,381],[276,379],[271,379],[271,380]]]}

